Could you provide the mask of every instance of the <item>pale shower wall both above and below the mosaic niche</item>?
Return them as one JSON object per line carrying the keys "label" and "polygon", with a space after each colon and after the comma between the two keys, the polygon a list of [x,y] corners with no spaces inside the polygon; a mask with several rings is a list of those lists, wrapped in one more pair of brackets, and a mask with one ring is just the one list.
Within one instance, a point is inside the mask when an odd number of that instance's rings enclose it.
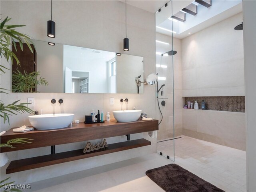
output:
{"label": "pale shower wall both above and below the mosaic niche", "polygon": [[[241,22],[239,13],[182,39],[182,96],[244,96],[243,31],[234,30]],[[184,135],[245,150],[245,113],[184,109],[182,116]]]}

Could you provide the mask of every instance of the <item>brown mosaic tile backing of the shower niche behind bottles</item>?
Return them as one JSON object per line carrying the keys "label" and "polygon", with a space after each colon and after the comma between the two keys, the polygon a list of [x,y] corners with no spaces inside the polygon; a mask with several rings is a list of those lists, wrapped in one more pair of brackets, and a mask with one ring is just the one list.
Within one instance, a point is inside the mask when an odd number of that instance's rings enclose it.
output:
{"label": "brown mosaic tile backing of the shower niche behind bottles", "polygon": [[193,102],[194,108],[194,103],[197,101],[199,109],[202,109],[203,100],[206,104],[206,110],[245,112],[244,96],[185,97],[185,104],[188,104],[188,101]]}

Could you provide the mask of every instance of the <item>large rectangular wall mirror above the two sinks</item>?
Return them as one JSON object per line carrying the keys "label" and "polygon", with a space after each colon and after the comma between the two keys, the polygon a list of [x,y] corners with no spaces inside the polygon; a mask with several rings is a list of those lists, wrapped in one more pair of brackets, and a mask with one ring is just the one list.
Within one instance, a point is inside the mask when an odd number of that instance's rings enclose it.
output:
{"label": "large rectangular wall mirror above the two sinks", "polygon": [[[12,92],[143,93],[143,57],[32,40],[16,55]],[[18,47],[18,46],[17,46]],[[14,49],[13,49],[14,50]]]}

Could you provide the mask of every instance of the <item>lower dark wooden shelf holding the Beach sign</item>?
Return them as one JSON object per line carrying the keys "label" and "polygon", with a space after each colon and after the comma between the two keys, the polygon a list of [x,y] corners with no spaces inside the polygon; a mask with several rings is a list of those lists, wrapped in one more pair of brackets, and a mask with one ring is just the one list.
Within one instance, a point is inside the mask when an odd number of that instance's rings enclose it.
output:
{"label": "lower dark wooden shelf holding the Beach sign", "polygon": [[7,167],[6,174],[94,157],[98,155],[104,155],[108,153],[114,153],[132,148],[147,146],[150,144],[151,142],[146,139],[137,139],[132,141],[109,144],[107,148],[92,151],[86,154],[83,153],[84,149],[79,149],[51,155],[14,160],[10,162],[9,166]]}

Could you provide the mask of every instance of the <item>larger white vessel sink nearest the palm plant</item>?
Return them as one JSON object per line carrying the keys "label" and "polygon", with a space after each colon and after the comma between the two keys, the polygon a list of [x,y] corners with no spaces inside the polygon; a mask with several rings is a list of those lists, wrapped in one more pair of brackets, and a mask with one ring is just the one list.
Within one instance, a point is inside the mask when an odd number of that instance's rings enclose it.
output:
{"label": "larger white vessel sink nearest the palm plant", "polygon": [[39,130],[59,129],[70,125],[74,118],[74,114],[44,114],[28,116],[30,124]]}

